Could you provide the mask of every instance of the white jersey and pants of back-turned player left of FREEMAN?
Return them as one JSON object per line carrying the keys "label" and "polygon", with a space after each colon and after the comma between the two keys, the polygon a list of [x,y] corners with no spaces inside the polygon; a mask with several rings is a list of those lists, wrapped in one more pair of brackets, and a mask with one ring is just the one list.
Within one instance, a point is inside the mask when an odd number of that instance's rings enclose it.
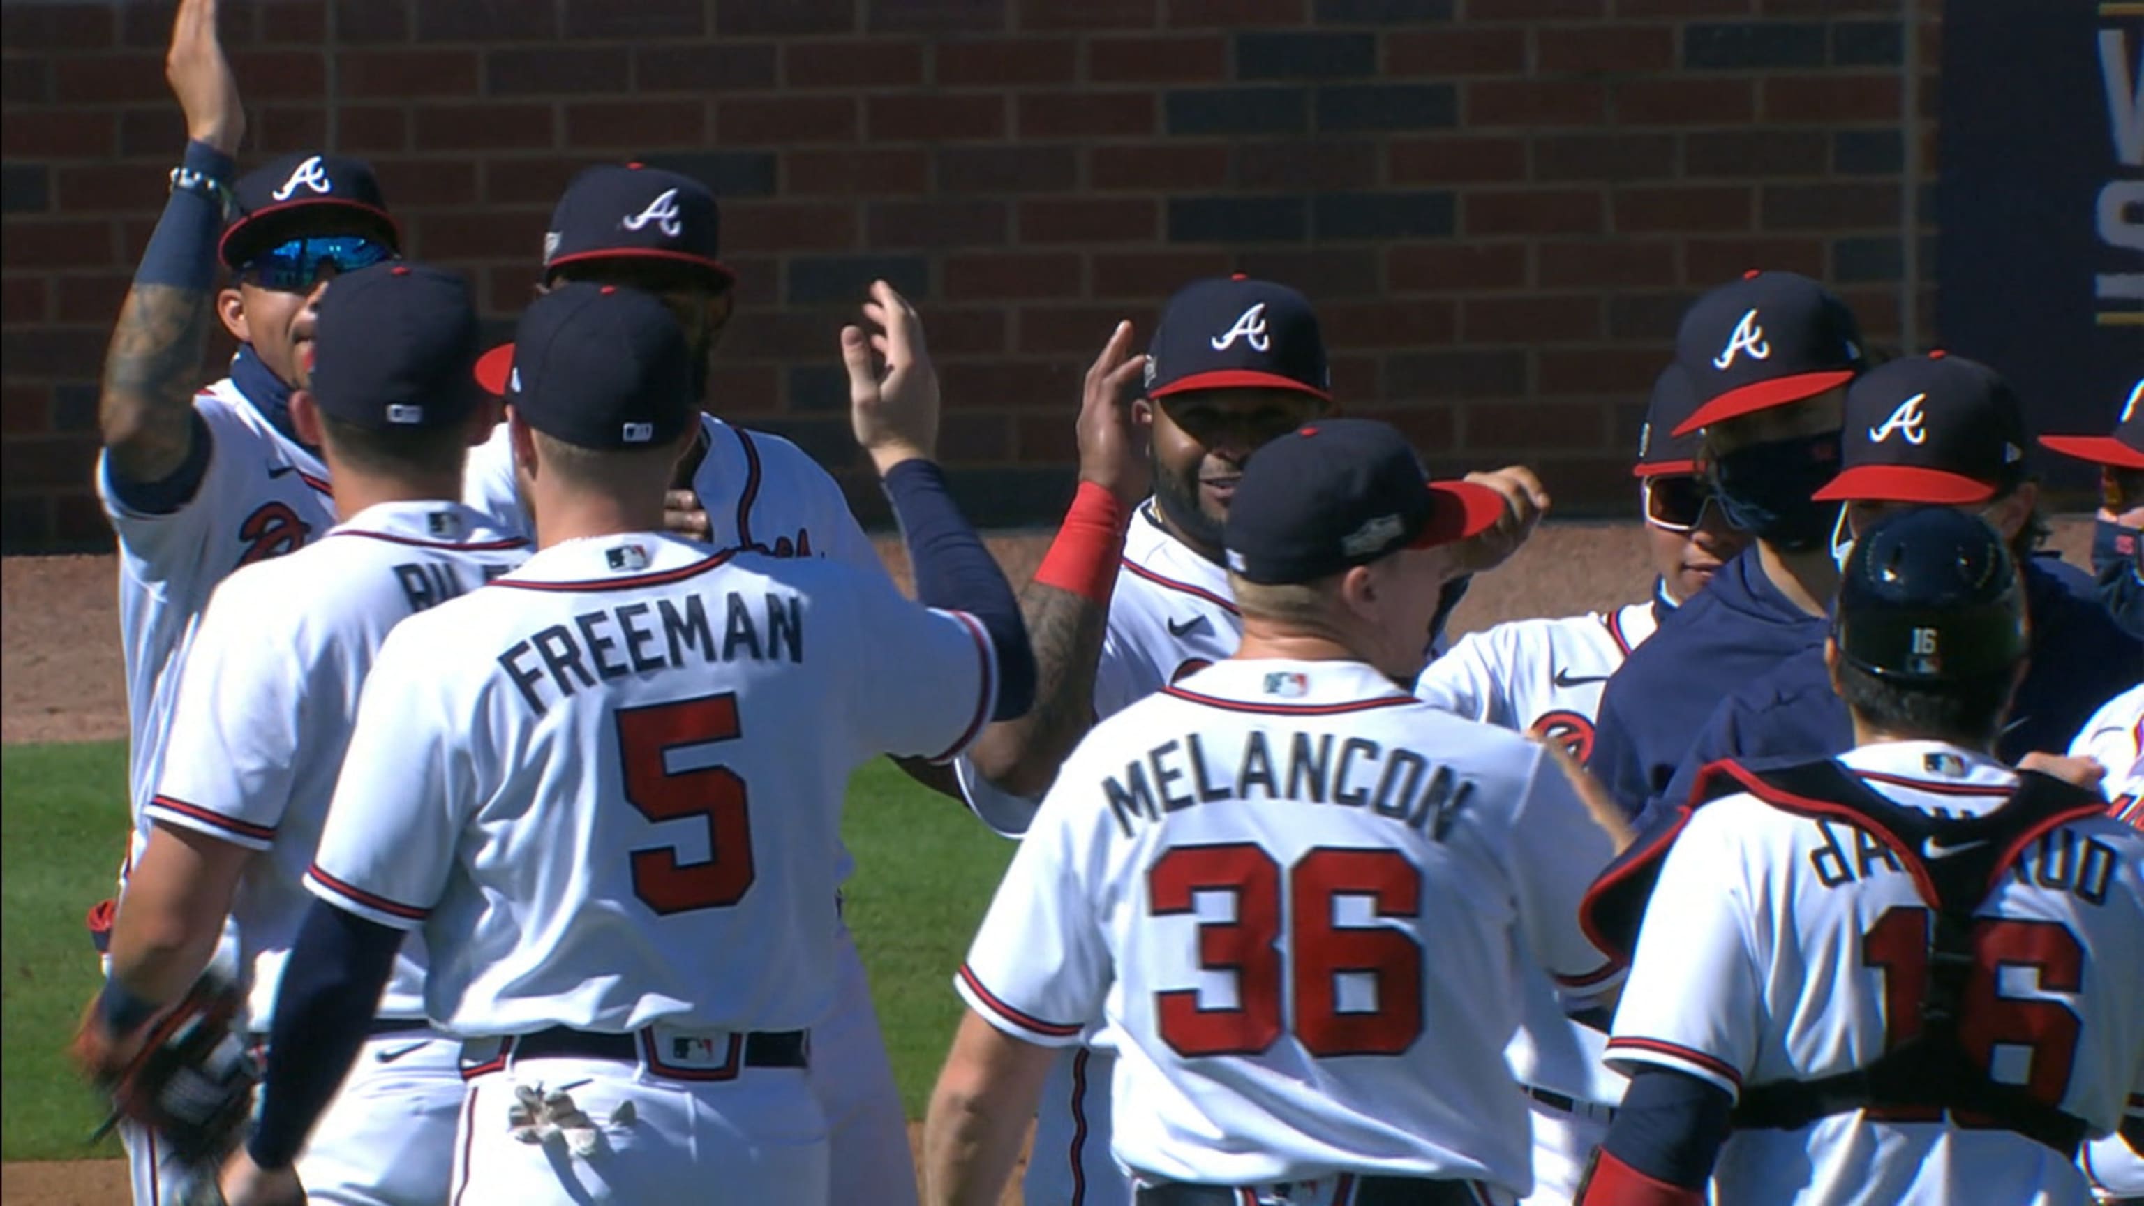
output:
{"label": "white jersey and pants of back-turned player left of FREEMAN", "polygon": [[[202,614],[146,815],[264,852],[232,903],[266,1034],[298,936],[358,689],[403,618],[476,590],[527,558],[459,502],[384,502],[287,558],[223,579]],[[461,1114],[461,1043],[425,1024],[425,946],[407,942],[298,1176],[313,1202],[444,1206]]]}

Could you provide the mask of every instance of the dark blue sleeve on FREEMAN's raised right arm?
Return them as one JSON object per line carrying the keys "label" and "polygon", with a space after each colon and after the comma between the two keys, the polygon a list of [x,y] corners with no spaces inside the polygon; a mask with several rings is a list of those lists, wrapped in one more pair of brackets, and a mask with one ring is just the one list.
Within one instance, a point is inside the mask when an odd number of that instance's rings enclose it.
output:
{"label": "dark blue sleeve on FREEMAN's raised right arm", "polygon": [[903,461],[885,474],[885,496],[894,502],[900,534],[909,545],[915,599],[976,616],[997,652],[997,710],[993,721],[1027,715],[1036,700],[1036,652],[1027,646],[1021,603],[982,547],[976,528],[946,491],[946,474],[930,461]]}

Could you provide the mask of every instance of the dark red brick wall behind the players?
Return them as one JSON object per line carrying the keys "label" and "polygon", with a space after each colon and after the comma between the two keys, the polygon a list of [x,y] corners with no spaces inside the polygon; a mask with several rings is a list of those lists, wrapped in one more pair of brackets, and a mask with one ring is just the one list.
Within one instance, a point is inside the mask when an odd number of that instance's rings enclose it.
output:
{"label": "dark red brick wall behind the players", "polygon": [[[1351,410],[1623,511],[1696,290],[1795,268],[1900,337],[1912,2],[225,0],[225,41],[247,161],[332,131],[502,322],[575,170],[708,180],[744,303],[712,401],[851,479],[834,330],[873,275],[924,303],[943,455],[1012,524],[1068,498],[1111,324],[1246,270],[1319,303]],[[4,541],[96,545],[94,382],[182,142],[169,6],[0,17]]]}

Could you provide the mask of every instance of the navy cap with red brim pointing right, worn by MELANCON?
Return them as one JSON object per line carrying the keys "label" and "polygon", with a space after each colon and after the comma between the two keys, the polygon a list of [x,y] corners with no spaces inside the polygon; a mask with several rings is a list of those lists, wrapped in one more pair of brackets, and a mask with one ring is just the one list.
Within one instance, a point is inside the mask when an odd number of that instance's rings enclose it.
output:
{"label": "navy cap with red brim pointing right, worn by MELANCON", "polygon": [[1316,582],[1402,547],[1464,541],[1503,517],[1503,496],[1428,481],[1406,436],[1374,418],[1327,418],[1252,453],[1222,545],[1265,586]]}

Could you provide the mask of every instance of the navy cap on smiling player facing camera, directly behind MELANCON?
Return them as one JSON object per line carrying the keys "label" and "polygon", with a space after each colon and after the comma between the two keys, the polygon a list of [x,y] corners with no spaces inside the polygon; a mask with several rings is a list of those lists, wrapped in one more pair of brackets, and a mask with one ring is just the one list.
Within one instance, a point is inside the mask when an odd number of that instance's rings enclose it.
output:
{"label": "navy cap on smiling player facing camera, directly behind MELANCON", "polygon": [[1325,337],[1310,298],[1244,275],[1183,285],[1162,307],[1147,348],[1147,397],[1244,386],[1331,401]]}

